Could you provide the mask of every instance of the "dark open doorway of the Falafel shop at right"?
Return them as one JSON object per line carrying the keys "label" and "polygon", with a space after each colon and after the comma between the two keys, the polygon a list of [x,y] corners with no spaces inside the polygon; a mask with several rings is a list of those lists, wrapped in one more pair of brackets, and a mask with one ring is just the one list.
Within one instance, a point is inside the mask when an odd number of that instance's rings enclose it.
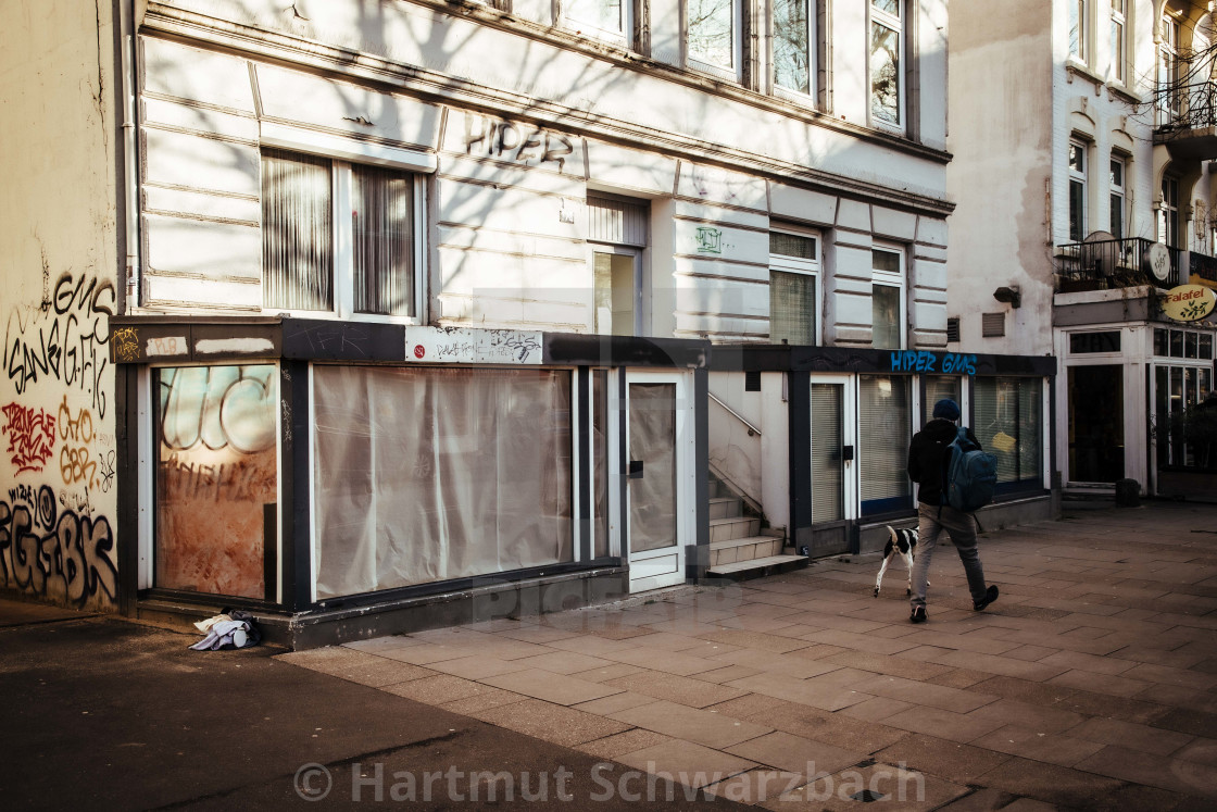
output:
{"label": "dark open doorway of the Falafel shop at right", "polygon": [[1069,480],[1125,476],[1125,377],[1117,364],[1069,368]]}

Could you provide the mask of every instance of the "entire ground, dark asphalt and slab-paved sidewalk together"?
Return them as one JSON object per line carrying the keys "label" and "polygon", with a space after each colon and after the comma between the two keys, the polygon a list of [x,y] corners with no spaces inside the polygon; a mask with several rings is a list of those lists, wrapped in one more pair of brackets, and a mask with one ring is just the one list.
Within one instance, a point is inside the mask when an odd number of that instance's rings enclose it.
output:
{"label": "entire ground, dark asphalt and slab-paved sidewalk together", "polygon": [[1215,543],[1193,504],[989,533],[1002,597],[971,611],[938,550],[924,626],[877,556],[291,654],[0,601],[0,797],[1208,810]]}

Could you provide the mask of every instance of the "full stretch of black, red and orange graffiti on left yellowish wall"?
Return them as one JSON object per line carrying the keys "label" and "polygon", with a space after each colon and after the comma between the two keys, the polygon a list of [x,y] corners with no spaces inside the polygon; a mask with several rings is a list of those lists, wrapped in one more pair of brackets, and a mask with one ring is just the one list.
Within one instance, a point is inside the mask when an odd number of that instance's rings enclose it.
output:
{"label": "full stretch of black, red and orange graffiti on left yellowish wall", "polygon": [[94,505],[114,486],[105,419],[116,306],[112,281],[91,271],[55,279],[44,262],[41,301],[13,307],[5,330],[0,587],[68,606],[118,597],[113,526]]}

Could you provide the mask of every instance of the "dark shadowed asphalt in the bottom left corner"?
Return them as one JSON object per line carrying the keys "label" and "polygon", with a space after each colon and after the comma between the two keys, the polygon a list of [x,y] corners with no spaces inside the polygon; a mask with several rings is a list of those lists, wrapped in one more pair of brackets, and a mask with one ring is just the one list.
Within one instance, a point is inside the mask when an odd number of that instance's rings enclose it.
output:
{"label": "dark shadowed asphalt in the bottom left corner", "polygon": [[195,639],[0,600],[5,808],[320,808],[377,796],[469,808],[490,800],[492,783],[473,775],[483,771],[500,773],[500,803],[690,803],[683,786],[276,662],[277,649],[197,653]]}

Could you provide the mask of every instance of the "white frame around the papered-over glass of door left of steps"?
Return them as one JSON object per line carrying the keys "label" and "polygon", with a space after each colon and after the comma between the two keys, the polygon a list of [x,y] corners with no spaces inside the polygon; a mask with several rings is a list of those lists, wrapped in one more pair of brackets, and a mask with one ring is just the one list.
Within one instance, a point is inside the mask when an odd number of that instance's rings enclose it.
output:
{"label": "white frame around the papered-over glass of door left of steps", "polygon": [[[629,564],[629,590],[632,593],[671,587],[685,582],[685,545],[694,543],[696,527],[696,481],[694,478],[694,452],[696,432],[692,403],[692,376],[684,371],[643,371],[627,370],[624,403],[626,414],[626,460],[630,459],[629,448],[629,386],[630,383],[674,383],[677,396],[675,408],[675,538],[672,547],[634,553],[629,548],[629,516],[632,489],[622,488],[626,515],[626,532],[622,538],[622,560]],[[646,475],[644,469],[643,475]],[[628,478],[622,481],[629,482]]]}

